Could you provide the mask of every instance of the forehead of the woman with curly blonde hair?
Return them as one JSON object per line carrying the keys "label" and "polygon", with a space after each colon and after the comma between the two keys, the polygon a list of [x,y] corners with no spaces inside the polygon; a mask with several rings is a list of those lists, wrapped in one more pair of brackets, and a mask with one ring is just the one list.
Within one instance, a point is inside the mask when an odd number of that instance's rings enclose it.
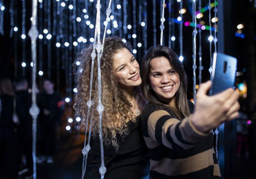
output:
{"label": "forehead of the woman with curly blonde hair", "polygon": [[128,51],[127,48],[122,48],[122,50],[119,50],[113,56],[113,67],[115,68],[119,65],[129,62],[131,60],[131,57],[133,57],[133,54],[131,54],[131,52]]}

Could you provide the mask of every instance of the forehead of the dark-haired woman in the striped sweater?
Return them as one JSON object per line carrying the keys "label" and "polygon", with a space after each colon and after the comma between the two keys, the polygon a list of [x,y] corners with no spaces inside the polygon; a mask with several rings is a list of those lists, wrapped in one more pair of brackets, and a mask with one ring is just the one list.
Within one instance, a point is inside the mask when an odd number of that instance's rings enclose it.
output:
{"label": "forehead of the dark-haired woman in the striped sweater", "polygon": [[166,71],[169,69],[172,69],[172,65],[166,57],[156,57],[150,60],[150,72]]}

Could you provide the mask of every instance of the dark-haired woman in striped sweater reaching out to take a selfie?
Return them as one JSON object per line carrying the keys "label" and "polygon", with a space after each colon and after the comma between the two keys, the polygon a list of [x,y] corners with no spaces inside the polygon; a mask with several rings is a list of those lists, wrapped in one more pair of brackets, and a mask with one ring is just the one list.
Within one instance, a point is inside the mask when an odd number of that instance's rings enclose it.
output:
{"label": "dark-haired woman in striped sweater reaching out to take a selfie", "polygon": [[202,83],[196,105],[187,100],[187,76],[177,54],[163,45],[143,57],[142,91],[149,104],[142,113],[142,131],[150,152],[151,179],[220,178],[212,128],[238,116],[238,94],[227,89],[207,96]]}

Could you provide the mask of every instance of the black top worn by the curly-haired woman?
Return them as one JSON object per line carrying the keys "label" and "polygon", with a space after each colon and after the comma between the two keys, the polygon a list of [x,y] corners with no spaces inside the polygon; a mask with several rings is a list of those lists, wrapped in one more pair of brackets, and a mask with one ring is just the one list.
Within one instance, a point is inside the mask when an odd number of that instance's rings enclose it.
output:
{"label": "black top worn by the curly-haired woman", "polygon": [[[140,116],[136,122],[127,123],[130,133],[125,138],[117,137],[118,151],[113,147],[104,145],[104,161],[107,171],[105,179],[148,179],[149,154],[140,130]],[[101,165],[100,142],[94,139],[88,155],[85,178],[100,179],[99,167]]]}

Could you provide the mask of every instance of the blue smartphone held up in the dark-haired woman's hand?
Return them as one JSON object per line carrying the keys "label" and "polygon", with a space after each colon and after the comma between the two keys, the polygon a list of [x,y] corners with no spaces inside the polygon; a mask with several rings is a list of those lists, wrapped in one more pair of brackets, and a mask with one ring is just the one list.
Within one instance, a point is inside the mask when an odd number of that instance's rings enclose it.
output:
{"label": "blue smartphone held up in the dark-haired woman's hand", "polygon": [[209,95],[234,88],[237,59],[226,54],[214,53],[212,61],[212,86]]}

